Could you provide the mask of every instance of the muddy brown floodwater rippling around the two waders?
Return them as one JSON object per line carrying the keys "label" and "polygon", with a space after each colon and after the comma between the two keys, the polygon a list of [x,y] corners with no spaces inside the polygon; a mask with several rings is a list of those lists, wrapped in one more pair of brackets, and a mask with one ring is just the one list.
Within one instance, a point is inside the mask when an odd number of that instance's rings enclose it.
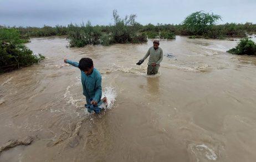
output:
{"label": "muddy brown floodwater rippling around the two waders", "polygon": [[[152,45],[27,46],[46,60],[0,75],[0,161],[256,161],[256,58],[237,41],[161,40],[160,74],[136,62]],[[94,60],[111,104],[84,112],[80,71]]]}

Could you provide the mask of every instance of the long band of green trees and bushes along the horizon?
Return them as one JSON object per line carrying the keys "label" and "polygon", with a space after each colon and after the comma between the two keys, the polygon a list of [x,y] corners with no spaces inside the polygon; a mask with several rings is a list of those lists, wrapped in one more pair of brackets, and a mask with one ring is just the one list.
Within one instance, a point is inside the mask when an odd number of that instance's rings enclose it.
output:
{"label": "long band of green trees and bushes along the horizon", "polygon": [[[32,36],[61,36],[69,40],[69,46],[85,46],[91,44],[110,45],[114,43],[143,43],[147,38],[176,39],[176,35],[186,35],[188,38],[225,39],[227,37],[244,38],[248,34],[256,33],[256,24],[226,23],[216,25],[221,15],[194,12],[188,15],[181,24],[147,24],[142,25],[135,21],[136,14],[120,18],[117,11],[113,13],[114,23],[111,25],[91,25],[90,22],[38,27],[12,27],[19,30],[22,38]],[[0,26],[1,28],[1,26]],[[8,28],[8,27],[2,27]]]}

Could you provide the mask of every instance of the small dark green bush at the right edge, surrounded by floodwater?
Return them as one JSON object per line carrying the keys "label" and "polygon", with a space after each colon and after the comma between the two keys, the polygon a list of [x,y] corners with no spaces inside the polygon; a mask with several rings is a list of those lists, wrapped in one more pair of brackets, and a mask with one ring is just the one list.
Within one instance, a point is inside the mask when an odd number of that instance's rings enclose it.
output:
{"label": "small dark green bush at the right edge, surrounded by floodwater", "polygon": [[236,55],[256,55],[256,44],[249,38],[240,39],[237,46],[227,51]]}

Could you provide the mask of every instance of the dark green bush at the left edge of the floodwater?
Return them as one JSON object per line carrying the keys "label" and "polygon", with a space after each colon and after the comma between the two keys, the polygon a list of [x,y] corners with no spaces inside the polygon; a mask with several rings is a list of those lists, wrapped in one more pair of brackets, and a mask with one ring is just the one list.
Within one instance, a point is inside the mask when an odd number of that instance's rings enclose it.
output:
{"label": "dark green bush at the left edge of the floodwater", "polygon": [[41,54],[34,55],[23,42],[17,29],[0,28],[0,72],[32,65],[44,59]]}

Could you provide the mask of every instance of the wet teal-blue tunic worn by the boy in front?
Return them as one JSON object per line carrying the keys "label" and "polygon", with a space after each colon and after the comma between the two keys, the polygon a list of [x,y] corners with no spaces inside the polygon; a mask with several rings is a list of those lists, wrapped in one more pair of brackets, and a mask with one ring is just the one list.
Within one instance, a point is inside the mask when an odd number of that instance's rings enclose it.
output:
{"label": "wet teal-blue tunic worn by the boy in front", "polygon": [[[66,62],[75,67],[78,67],[79,65],[78,62],[70,60],[66,60]],[[86,75],[84,71],[81,71],[81,82],[83,86],[83,95],[86,97],[86,103],[90,104],[90,98],[93,98],[96,102],[100,102],[102,95],[100,72],[95,68],[90,75]]]}

